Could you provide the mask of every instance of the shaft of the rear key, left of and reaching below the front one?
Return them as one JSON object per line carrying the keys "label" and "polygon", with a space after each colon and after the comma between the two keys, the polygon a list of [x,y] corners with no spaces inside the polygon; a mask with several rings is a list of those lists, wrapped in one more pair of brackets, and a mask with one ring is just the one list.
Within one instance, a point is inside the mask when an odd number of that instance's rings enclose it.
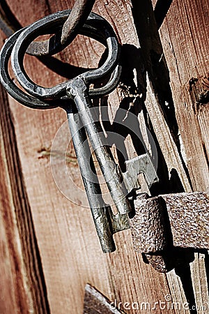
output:
{"label": "shaft of the rear key, left of and reaching below the front one", "polygon": [[102,191],[98,182],[98,177],[94,174],[94,164],[90,167],[91,151],[88,146],[86,130],[82,125],[79,115],[72,112],[72,106],[67,110],[68,124],[72,137],[72,142],[77,155],[79,169],[84,182],[84,188],[88,197],[88,203],[91,208],[91,214],[95,223],[95,228],[100,239],[102,251],[104,253],[114,252],[116,250],[112,232],[109,225],[108,213],[111,208],[105,204],[102,198]]}

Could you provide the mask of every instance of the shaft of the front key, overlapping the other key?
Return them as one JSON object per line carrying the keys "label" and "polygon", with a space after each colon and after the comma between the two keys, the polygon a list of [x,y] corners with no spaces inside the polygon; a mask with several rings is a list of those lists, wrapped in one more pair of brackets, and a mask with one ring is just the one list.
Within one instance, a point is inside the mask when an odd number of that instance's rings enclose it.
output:
{"label": "shaft of the front key, overlapping the other key", "polygon": [[114,203],[120,214],[131,211],[130,201],[127,199],[127,190],[120,168],[114,162],[111,150],[105,144],[104,133],[94,116],[93,105],[88,97],[88,88],[81,77],[76,77],[67,87],[67,94],[75,101],[82,123],[86,128],[95,156],[109,188]]}

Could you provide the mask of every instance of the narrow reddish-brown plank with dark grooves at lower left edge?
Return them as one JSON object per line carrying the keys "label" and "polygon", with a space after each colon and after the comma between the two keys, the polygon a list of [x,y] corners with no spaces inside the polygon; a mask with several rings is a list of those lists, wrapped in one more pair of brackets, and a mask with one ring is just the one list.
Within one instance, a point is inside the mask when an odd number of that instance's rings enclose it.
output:
{"label": "narrow reddish-brown plank with dark grooves at lower left edge", "polygon": [[0,89],[1,313],[49,313],[8,96]]}

